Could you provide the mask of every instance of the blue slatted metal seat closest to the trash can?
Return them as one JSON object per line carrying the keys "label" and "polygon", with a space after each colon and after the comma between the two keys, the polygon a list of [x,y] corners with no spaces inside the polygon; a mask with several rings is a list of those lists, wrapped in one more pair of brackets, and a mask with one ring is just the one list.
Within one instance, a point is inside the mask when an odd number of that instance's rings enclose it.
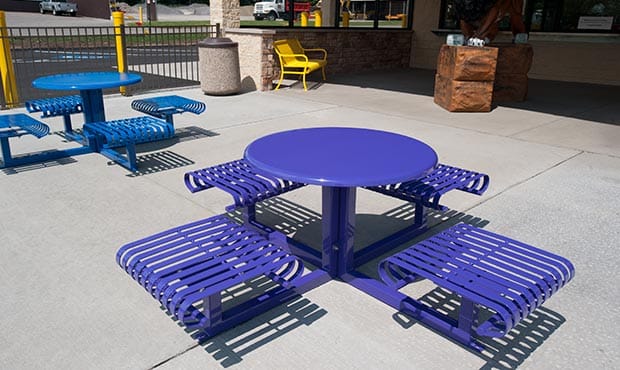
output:
{"label": "blue slatted metal seat closest to the trash can", "polygon": [[137,99],[131,102],[131,107],[139,112],[165,119],[170,124],[173,124],[172,116],[175,114],[185,112],[200,114],[207,109],[205,103],[178,95]]}

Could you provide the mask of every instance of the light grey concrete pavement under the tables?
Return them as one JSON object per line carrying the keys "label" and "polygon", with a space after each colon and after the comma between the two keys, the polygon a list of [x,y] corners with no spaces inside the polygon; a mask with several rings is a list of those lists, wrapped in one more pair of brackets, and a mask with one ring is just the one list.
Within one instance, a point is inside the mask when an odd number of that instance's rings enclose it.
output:
{"label": "light grey concrete pavement under the tables", "polygon": [[[534,80],[526,102],[449,113],[433,103],[432,83],[429,71],[399,70],[330,76],[308,92],[300,84],[226,97],[175,90],[205,101],[207,112],[175,117],[178,139],[139,146],[137,175],[98,154],[0,172],[0,368],[616,367],[620,88]],[[106,96],[108,119],[138,115],[134,98]],[[46,122],[62,128],[61,119]],[[508,337],[483,338],[481,354],[339,281],[197,344],[116,265],[116,250],[231,203],[214,189],[189,193],[186,171],[238,159],[268,133],[330,125],[413,136],[441,162],[491,176],[481,197],[445,196],[452,211],[431,214],[426,235],[456,220],[483,225],[569,258],[576,278]],[[70,145],[59,135],[12,139],[14,153]],[[320,189],[287,193],[259,211],[259,219],[320,243]],[[407,204],[360,190],[356,240],[376,240],[409,216]],[[375,268],[376,261],[362,267]],[[407,291],[440,298],[419,284]]]}

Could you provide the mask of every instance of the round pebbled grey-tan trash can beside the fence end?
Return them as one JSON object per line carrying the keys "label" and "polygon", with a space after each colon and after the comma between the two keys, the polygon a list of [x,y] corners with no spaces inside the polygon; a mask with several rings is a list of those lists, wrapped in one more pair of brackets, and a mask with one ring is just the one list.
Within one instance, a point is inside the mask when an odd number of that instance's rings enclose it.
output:
{"label": "round pebbled grey-tan trash can beside the fence end", "polygon": [[200,87],[208,95],[230,95],[241,90],[239,44],[229,38],[198,43]]}

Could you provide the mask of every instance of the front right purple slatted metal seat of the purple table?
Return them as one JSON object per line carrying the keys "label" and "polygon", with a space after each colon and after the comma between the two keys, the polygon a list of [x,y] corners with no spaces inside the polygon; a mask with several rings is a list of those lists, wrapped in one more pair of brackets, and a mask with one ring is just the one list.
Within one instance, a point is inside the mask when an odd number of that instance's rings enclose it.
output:
{"label": "front right purple slatted metal seat of the purple table", "polygon": [[[461,297],[458,321],[407,297],[400,310],[480,350],[481,336],[506,335],[568,283],[566,258],[471,225],[455,225],[383,260],[381,279],[393,290],[429,279]],[[479,307],[493,314],[478,324]]]}

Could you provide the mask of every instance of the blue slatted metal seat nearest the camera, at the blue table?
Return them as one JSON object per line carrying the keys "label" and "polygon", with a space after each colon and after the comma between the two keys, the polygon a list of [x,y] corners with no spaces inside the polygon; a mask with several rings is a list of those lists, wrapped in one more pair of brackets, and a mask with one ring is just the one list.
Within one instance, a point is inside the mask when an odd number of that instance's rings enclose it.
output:
{"label": "blue slatted metal seat nearest the camera, at the blue table", "polygon": [[[172,124],[154,117],[133,117],[84,124],[90,146],[130,171],[137,171],[136,144],[169,139],[174,136]],[[114,148],[126,148],[123,156]]]}

